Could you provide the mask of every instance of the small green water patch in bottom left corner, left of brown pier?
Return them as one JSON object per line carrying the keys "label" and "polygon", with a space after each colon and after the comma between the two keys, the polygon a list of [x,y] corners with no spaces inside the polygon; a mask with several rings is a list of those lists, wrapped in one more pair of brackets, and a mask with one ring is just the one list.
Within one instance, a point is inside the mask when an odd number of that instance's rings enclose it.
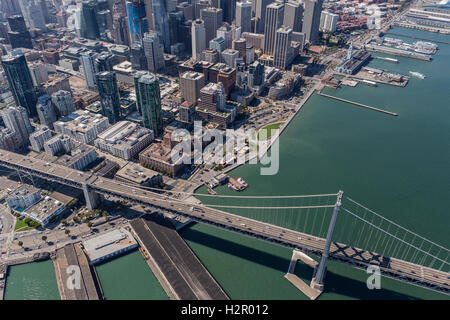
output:
{"label": "small green water patch in bottom left corner, left of brown pier", "polygon": [[51,260],[20,264],[8,270],[5,300],[59,300]]}

